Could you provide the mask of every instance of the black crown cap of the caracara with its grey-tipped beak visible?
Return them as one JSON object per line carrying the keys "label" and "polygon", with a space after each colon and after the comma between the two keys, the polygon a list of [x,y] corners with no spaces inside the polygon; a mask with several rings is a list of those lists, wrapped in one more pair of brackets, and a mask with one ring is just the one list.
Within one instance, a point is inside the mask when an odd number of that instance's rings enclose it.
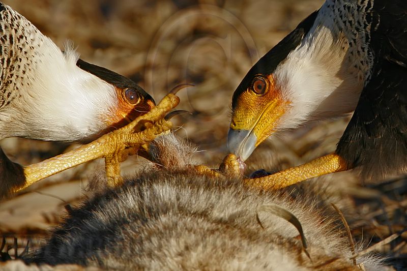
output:
{"label": "black crown cap of the caracara with its grey-tipped beak visible", "polygon": [[256,74],[271,74],[277,68],[277,66],[284,61],[287,55],[293,51],[300,44],[303,37],[309,32],[314,24],[318,11],[314,11],[306,19],[304,19],[290,34],[274,46],[269,52],[261,57],[258,62],[251,67],[249,72],[243,78],[242,82],[236,88],[232,98],[232,108],[235,108],[238,97],[244,92],[253,77]]}

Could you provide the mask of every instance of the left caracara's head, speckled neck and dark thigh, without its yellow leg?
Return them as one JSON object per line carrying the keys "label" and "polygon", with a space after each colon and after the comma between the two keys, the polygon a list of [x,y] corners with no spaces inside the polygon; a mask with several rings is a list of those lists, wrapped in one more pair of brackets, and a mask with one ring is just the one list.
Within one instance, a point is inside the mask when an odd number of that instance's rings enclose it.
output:
{"label": "left caracara's head, speckled neck and dark thigh, without its yellow leg", "polygon": [[[0,140],[89,141],[155,105],[132,80],[82,61],[72,46],[61,51],[2,3],[0,31]],[[0,148],[0,198],[26,177]]]}

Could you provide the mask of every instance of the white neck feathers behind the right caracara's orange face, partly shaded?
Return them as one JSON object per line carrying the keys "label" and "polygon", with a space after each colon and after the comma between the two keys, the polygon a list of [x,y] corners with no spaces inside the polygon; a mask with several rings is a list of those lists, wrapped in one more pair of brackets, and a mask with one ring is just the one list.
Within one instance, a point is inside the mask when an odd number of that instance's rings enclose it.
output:
{"label": "white neck feathers behind the right caracara's orange face, partly shaded", "polygon": [[290,101],[277,129],[355,110],[364,77],[350,61],[348,39],[330,19],[318,15],[310,33],[274,73],[277,89]]}

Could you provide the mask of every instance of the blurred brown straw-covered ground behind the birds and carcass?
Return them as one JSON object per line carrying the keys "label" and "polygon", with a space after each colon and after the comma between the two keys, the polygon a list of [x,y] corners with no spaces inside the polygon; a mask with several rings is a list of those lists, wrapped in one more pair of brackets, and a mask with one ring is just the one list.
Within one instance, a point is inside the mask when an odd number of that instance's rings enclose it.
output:
{"label": "blurred brown straw-covered ground behind the birds and carcass", "polygon": [[[173,86],[195,84],[180,93],[179,109],[194,113],[178,117],[177,133],[199,147],[197,159],[216,166],[226,154],[230,101],[240,80],[257,59],[271,49],[322,0],[8,0],[3,1],[32,21],[58,46],[74,41],[85,61],[130,77],[158,102]],[[285,131],[264,143],[248,160],[249,170],[280,170],[332,152],[348,117]],[[75,145],[10,138],[1,142],[6,154],[23,165],[60,154]],[[140,163],[123,163],[126,174]],[[0,203],[0,235],[22,246],[37,246],[66,203],[75,203],[101,161],[57,174]],[[251,168],[250,168],[251,167]],[[331,194],[346,210],[356,238],[378,242],[404,229],[406,182],[360,188],[352,172],[324,176]],[[367,237],[366,237],[367,236]],[[359,241],[361,238],[358,239]],[[36,243],[37,242],[37,243]],[[405,238],[383,246],[382,252],[402,259]]]}

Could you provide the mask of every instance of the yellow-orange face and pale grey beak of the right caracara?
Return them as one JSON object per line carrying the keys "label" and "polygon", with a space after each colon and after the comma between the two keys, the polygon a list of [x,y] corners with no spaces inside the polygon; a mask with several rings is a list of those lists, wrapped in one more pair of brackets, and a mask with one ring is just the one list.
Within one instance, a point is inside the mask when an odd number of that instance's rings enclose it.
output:
{"label": "yellow-orange face and pale grey beak of the right caracara", "polygon": [[[261,82],[256,81],[258,79],[266,82],[264,92],[255,89]],[[289,101],[284,101],[275,88],[273,75],[255,76],[246,91],[238,97],[232,112],[228,135],[230,152],[246,160],[254,148],[274,132],[278,118],[285,113],[288,105]],[[238,132],[243,133],[238,136]]]}

